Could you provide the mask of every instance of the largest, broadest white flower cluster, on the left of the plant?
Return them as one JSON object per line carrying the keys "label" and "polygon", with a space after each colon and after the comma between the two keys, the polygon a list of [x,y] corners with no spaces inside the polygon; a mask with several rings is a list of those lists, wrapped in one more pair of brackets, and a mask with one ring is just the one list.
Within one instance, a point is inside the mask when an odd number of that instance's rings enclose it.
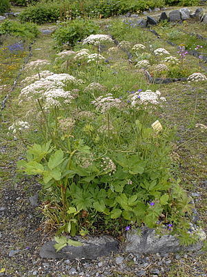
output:
{"label": "largest, broadest white flower cluster, on the left of the plant", "polygon": [[67,82],[79,82],[72,75],[52,74],[46,78],[41,78],[21,90],[19,95],[20,102],[28,99],[35,99],[42,97],[46,101],[46,108],[51,106],[60,106],[59,98],[63,98],[66,104],[69,104],[72,99],[75,99],[77,95],[74,95],[71,91],[63,90]]}

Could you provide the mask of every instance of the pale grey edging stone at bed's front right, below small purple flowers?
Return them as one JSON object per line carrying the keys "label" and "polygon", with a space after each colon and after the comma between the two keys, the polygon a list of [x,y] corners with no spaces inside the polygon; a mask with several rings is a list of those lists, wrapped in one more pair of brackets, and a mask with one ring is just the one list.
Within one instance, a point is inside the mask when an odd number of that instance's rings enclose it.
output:
{"label": "pale grey edging stone at bed's front right, below small purple flowers", "polygon": [[[194,229],[195,229],[195,225]],[[195,230],[193,230],[195,231]],[[172,253],[177,251],[197,251],[201,249],[204,240],[204,233],[198,230],[199,242],[194,245],[182,246],[179,239],[172,235],[157,235],[155,229],[141,227],[141,234],[137,234],[136,229],[132,229],[126,233],[125,251],[133,254],[156,254]],[[204,231],[203,231],[204,232]],[[140,233],[140,232],[139,232]]]}

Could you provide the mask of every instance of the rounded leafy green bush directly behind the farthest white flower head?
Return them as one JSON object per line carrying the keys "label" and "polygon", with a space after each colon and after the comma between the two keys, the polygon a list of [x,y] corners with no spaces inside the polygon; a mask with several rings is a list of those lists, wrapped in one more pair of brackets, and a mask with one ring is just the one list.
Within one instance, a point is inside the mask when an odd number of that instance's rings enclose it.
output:
{"label": "rounded leafy green bush directly behind the farthest white flower head", "polygon": [[75,19],[68,22],[63,22],[55,30],[53,38],[57,46],[68,44],[74,46],[77,41],[81,41],[89,35],[97,33],[99,26],[90,20]]}

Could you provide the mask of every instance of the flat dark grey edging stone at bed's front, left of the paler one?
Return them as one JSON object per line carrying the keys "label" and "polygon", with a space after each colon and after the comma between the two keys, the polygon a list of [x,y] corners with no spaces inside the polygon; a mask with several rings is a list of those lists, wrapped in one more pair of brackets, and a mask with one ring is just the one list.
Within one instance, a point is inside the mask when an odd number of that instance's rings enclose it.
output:
{"label": "flat dark grey edging stone at bed's front, left of the paler one", "polygon": [[101,256],[107,256],[112,251],[118,251],[119,242],[110,236],[88,236],[87,240],[79,237],[78,240],[83,243],[82,246],[73,247],[67,245],[58,252],[54,248],[55,240],[50,240],[41,247],[39,255],[41,258],[87,258],[87,260],[92,260]]}

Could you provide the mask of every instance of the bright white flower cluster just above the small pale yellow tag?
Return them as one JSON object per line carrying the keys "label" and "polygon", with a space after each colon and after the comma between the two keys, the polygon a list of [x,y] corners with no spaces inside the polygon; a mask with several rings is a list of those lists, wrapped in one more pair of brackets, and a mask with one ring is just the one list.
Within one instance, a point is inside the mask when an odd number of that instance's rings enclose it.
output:
{"label": "bright white flower cluster just above the small pale yellow tag", "polygon": [[153,104],[158,105],[160,102],[166,101],[165,97],[160,97],[161,93],[159,90],[153,92],[152,90],[142,91],[141,93],[137,91],[128,96],[128,101],[130,101],[131,106],[137,106],[140,104]]}

